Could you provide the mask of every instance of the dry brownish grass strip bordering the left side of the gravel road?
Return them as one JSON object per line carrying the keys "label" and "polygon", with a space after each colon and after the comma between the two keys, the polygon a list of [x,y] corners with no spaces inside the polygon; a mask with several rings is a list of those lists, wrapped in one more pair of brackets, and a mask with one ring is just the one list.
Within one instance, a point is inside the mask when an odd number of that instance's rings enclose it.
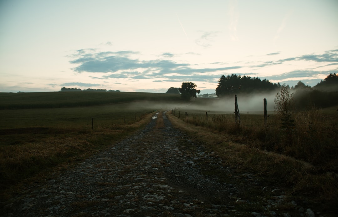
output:
{"label": "dry brownish grass strip bordering the left side of the gravel road", "polygon": [[[111,125],[96,130],[48,128],[32,133],[7,133],[0,139],[8,145],[0,146],[0,187],[2,190],[22,180],[31,178],[46,168],[65,166],[99,149],[112,145],[135,132],[150,121],[151,114],[133,124]],[[40,133],[39,133],[40,131]]]}

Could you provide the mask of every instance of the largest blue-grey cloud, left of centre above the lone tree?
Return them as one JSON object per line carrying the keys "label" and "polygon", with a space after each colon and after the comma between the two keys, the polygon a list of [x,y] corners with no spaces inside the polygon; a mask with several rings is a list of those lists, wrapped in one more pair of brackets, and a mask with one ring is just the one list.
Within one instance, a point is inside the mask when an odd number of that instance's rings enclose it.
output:
{"label": "largest blue-grey cloud, left of centre above the lone tree", "polygon": [[[138,54],[132,51],[119,52],[96,52],[94,49],[78,50],[70,61],[78,66],[72,68],[75,72],[106,73],[101,77],[93,79],[184,79],[192,78],[200,81],[210,81],[214,77],[201,74],[239,69],[242,66],[215,67],[215,68],[193,68],[193,65],[177,63],[172,60],[155,59],[139,60],[132,59],[130,55]],[[173,56],[171,53],[163,53],[162,56]],[[196,65],[194,65],[196,66]],[[198,74],[197,74],[198,73]],[[175,74],[175,75],[173,75]]]}

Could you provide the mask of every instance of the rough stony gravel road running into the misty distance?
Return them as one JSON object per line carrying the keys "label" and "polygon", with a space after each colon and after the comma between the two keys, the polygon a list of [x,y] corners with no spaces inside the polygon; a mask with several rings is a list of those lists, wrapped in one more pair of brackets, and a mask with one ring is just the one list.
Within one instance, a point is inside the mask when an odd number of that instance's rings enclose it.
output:
{"label": "rough stony gravel road running into the misty distance", "polygon": [[[5,203],[1,214],[279,216],[273,207],[284,197],[275,189],[275,197],[262,197],[259,203],[243,199],[245,192],[263,192],[264,186],[255,176],[236,173],[214,153],[194,144],[171,126],[165,113],[156,114],[127,139],[51,177],[27,186]],[[256,212],[258,206],[266,207],[266,212]],[[295,202],[291,206],[297,207]]]}

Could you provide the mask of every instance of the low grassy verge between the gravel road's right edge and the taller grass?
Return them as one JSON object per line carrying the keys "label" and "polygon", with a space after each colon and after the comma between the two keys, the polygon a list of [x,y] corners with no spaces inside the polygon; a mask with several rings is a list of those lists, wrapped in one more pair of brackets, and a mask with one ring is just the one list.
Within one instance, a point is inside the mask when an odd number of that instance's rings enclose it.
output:
{"label": "low grassy verge between the gravel road's right edge and the taller grass", "polygon": [[306,200],[322,210],[337,212],[338,177],[335,173],[319,173],[307,162],[261,150],[248,140],[243,143],[242,133],[229,134],[223,128],[212,129],[196,122],[189,124],[185,117],[182,120],[167,114],[175,127],[191,135],[195,142],[202,142],[227,165],[236,166],[243,173],[256,174],[266,185],[284,187],[291,199]]}

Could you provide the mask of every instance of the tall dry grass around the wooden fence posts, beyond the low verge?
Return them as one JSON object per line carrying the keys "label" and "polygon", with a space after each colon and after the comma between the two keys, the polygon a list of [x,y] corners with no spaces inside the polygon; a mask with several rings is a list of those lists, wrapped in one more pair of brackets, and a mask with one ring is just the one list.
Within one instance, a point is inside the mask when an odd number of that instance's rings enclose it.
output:
{"label": "tall dry grass around the wooden fence posts, beyond the low verge", "polygon": [[[201,115],[189,110],[175,114],[189,124],[233,136],[233,140],[265,151],[273,151],[311,162],[321,171],[338,172],[338,114],[333,108],[312,109],[295,114],[295,128],[285,129],[277,115],[241,114],[241,125],[233,114]],[[187,112],[189,115],[185,116]]]}

